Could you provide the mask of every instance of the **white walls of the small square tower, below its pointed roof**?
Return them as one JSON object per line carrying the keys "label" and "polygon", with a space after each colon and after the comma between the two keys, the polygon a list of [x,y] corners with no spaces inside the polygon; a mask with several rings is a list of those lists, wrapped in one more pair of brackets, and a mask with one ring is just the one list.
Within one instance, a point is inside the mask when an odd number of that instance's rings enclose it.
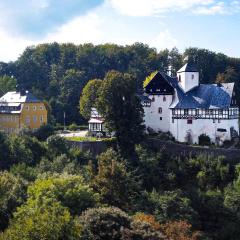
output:
{"label": "white walls of the small square tower, below its pointed roof", "polygon": [[[180,86],[182,89],[187,92],[192,88],[198,86],[199,84],[199,73],[198,72],[181,72],[177,73],[177,77],[179,79],[179,75],[181,76]],[[193,75],[193,79],[192,79]]]}

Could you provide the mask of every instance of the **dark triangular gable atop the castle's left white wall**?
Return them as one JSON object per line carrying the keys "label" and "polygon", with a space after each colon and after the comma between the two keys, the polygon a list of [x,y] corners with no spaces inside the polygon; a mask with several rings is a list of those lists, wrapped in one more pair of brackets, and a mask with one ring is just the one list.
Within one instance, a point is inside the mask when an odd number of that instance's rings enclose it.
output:
{"label": "dark triangular gable atop the castle's left white wall", "polygon": [[174,88],[163,74],[157,72],[145,85],[145,92],[151,95],[172,95]]}

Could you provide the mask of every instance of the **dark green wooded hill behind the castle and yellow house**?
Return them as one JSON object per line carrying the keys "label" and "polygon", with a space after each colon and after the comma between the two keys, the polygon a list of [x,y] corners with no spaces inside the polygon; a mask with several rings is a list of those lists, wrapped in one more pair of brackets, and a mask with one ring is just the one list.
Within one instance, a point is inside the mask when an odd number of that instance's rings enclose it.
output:
{"label": "dark green wooded hill behind the castle and yellow house", "polygon": [[[142,43],[40,44],[26,48],[15,62],[0,62],[0,76],[14,77],[19,87],[46,100],[53,122],[63,123],[65,111],[67,123],[80,124],[84,119],[79,114],[79,98],[89,80],[103,79],[108,71],[117,70],[133,74],[141,89],[144,79],[155,70],[166,72],[171,65],[175,74],[186,56],[198,66],[200,83],[234,81],[240,103],[240,58],[198,48],[188,48],[181,54],[176,48],[158,52]],[[0,78],[0,86],[1,81],[6,86],[6,76]],[[9,86],[4,90],[12,90]]]}

